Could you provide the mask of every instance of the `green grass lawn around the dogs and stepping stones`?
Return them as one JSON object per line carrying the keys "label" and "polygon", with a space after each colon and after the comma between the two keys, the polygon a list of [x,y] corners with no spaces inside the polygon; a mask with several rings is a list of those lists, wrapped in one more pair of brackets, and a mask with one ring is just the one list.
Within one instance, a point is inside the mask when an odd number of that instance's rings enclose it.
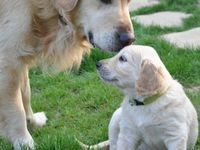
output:
{"label": "green grass lawn around the dogs and stepping stones", "polygon": [[[131,15],[174,10],[193,14],[184,20],[183,27],[143,27],[133,22],[136,44],[153,46],[169,72],[184,87],[200,85],[200,49],[181,49],[161,40],[160,35],[184,31],[200,26],[200,8],[197,0],[163,0],[160,4],[142,8]],[[122,93],[103,83],[96,72],[95,63],[114,53],[92,50],[77,71],[47,75],[34,68],[30,72],[32,106],[35,112],[45,111],[47,125],[30,129],[37,150],[79,150],[75,142],[95,144],[108,139],[108,123],[112,113],[120,106]],[[200,116],[200,91],[187,92]],[[7,141],[1,140],[0,150],[11,150]],[[200,150],[200,138],[195,150]]]}

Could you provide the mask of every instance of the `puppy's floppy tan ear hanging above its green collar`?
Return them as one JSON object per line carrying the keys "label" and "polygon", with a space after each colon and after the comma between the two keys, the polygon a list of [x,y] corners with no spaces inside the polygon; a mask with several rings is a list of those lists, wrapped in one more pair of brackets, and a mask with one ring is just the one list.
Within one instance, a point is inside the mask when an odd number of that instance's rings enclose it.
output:
{"label": "puppy's floppy tan ear hanging above its green collar", "polygon": [[142,62],[139,79],[136,82],[136,92],[141,96],[151,96],[162,93],[167,86],[162,67],[156,67],[150,60]]}

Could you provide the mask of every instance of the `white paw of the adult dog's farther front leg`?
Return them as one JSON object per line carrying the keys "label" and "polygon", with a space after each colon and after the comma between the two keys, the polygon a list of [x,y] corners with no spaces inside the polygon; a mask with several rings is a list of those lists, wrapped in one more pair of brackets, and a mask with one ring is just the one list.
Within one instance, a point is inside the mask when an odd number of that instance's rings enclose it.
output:
{"label": "white paw of the adult dog's farther front leg", "polygon": [[33,116],[34,116],[34,120],[35,120],[34,126],[42,127],[46,124],[47,117],[44,112],[34,113]]}

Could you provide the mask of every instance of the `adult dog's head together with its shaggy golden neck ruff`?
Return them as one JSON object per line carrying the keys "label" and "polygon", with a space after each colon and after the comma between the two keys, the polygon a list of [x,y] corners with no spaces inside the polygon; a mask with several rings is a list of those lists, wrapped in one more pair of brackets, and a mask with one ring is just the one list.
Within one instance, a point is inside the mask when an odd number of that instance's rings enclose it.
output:
{"label": "adult dog's head together with its shaggy golden neck ruff", "polygon": [[39,40],[34,44],[43,66],[62,70],[79,65],[91,45],[110,51],[130,45],[134,34],[129,1],[32,0],[31,37]]}

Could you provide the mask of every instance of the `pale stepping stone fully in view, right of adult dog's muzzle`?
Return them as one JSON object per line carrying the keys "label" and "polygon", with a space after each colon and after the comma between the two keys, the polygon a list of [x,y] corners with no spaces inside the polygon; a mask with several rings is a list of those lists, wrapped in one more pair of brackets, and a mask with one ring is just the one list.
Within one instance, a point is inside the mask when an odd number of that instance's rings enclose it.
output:
{"label": "pale stepping stone fully in view, right of adult dog's muzzle", "polygon": [[132,19],[144,26],[156,25],[161,27],[174,27],[181,26],[183,19],[190,16],[190,14],[183,12],[163,11],[135,16]]}

